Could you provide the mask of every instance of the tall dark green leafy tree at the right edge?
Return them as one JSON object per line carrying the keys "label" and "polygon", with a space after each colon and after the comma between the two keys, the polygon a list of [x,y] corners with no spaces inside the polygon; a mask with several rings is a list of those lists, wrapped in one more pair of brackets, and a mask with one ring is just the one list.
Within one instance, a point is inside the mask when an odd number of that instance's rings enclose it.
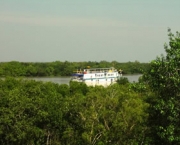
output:
{"label": "tall dark green leafy tree at the right edge", "polygon": [[180,33],[169,32],[169,46],[165,44],[166,56],[157,57],[150,63],[143,79],[154,92],[149,124],[152,144],[179,144],[180,142]]}

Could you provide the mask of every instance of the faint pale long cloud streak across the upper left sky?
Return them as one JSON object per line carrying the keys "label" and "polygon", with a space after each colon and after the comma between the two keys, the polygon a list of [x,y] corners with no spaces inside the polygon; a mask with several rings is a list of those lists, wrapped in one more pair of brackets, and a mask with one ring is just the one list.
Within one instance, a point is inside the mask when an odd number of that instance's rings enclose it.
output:
{"label": "faint pale long cloud streak across the upper left sky", "polygon": [[37,26],[129,27],[129,23],[103,18],[1,14],[0,22]]}

